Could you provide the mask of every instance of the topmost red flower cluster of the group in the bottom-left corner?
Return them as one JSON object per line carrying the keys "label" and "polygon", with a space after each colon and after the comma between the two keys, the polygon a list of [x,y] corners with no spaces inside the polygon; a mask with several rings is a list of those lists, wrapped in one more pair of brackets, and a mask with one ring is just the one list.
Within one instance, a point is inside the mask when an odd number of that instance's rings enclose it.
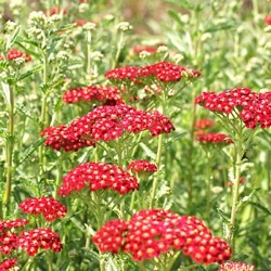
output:
{"label": "topmost red flower cluster of the group in the bottom-left corner", "polygon": [[31,215],[42,214],[44,219],[53,221],[57,218],[64,218],[66,207],[53,197],[33,197],[22,202],[18,206],[24,212]]}

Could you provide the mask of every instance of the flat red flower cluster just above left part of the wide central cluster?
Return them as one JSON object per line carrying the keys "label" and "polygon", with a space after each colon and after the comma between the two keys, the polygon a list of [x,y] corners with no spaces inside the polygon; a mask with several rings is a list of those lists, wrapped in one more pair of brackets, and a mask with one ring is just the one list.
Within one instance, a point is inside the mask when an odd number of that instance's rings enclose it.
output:
{"label": "flat red flower cluster just above left part of the wide central cluster", "polygon": [[102,102],[105,105],[122,103],[120,91],[117,88],[102,85],[68,90],[63,94],[62,99],[65,103],[92,101]]}

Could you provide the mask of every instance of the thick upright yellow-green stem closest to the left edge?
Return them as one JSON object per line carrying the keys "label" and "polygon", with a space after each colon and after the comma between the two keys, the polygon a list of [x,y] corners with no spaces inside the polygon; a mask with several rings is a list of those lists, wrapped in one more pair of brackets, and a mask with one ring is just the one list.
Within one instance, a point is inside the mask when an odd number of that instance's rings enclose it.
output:
{"label": "thick upright yellow-green stem closest to the left edge", "polygon": [[[7,139],[7,181],[5,181],[5,194],[3,198],[5,212],[9,211],[9,204],[11,198],[11,184],[12,184],[12,172],[13,172],[13,151],[14,151],[14,91],[11,86],[8,86],[9,90],[9,125],[8,133],[9,138]],[[5,214],[7,215],[7,214]]]}

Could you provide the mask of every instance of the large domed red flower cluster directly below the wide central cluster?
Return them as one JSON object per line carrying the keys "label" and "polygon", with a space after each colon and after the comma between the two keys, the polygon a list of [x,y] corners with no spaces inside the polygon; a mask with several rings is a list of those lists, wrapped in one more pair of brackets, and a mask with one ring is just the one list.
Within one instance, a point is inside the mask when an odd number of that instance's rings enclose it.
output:
{"label": "large domed red flower cluster directly below the wide central cluster", "polygon": [[112,189],[119,194],[139,189],[137,179],[116,165],[85,163],[63,178],[59,195],[66,196],[85,189],[86,184],[89,184],[90,191]]}

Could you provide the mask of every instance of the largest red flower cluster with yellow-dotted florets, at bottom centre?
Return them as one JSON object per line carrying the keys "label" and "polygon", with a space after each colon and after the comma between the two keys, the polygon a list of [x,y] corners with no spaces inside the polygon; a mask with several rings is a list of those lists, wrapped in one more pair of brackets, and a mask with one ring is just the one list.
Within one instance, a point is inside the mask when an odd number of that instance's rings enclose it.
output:
{"label": "largest red flower cluster with yellow-dotted florets, at bottom centre", "polygon": [[183,249],[194,261],[205,264],[222,263],[231,257],[225,241],[212,236],[202,220],[163,209],[141,210],[128,222],[108,221],[93,236],[93,242],[101,251],[130,253],[139,261],[170,249]]}

